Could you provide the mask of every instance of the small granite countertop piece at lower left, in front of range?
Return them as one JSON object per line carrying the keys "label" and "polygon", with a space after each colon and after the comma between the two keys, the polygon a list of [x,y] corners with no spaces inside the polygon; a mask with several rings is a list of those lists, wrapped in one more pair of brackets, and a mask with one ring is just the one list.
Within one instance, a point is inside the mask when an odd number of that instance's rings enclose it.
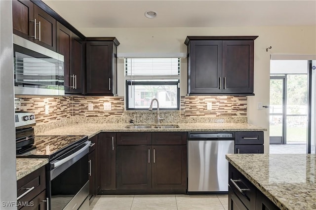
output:
{"label": "small granite countertop piece at lower left, in front of range", "polygon": [[31,174],[40,167],[46,165],[46,158],[17,158],[16,159],[16,180]]}

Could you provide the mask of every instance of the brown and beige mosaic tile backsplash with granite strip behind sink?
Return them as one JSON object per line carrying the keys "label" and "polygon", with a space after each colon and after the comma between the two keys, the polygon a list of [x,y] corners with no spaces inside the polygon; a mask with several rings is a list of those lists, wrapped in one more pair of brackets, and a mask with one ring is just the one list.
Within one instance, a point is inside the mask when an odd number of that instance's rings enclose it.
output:
{"label": "brown and beige mosaic tile backsplash with granite strip behind sink", "polygon": [[[123,97],[96,96],[16,96],[21,98],[21,106],[17,111],[34,111],[37,119],[37,130],[50,129],[69,123],[109,122],[155,123],[156,110],[153,112],[140,110],[124,110]],[[212,110],[207,110],[207,103],[212,103]],[[103,109],[103,103],[111,103],[110,111]],[[93,110],[88,111],[88,104]],[[49,113],[45,114],[45,105]],[[207,122],[247,122],[246,96],[185,96],[181,97],[180,110],[161,111],[162,123],[207,123]]]}

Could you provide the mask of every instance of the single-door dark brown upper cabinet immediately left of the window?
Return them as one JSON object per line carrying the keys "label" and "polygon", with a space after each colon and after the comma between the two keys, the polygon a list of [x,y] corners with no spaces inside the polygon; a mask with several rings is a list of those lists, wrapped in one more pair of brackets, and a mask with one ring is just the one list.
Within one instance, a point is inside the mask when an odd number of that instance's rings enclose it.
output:
{"label": "single-door dark brown upper cabinet immediately left of the window", "polygon": [[115,37],[86,38],[87,95],[117,94],[117,46]]}

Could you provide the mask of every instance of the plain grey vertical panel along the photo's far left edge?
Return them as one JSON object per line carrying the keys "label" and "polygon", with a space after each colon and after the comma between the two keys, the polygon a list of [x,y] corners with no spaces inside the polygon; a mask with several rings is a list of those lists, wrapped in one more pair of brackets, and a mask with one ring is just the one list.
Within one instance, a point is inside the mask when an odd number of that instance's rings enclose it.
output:
{"label": "plain grey vertical panel along the photo's far left edge", "polygon": [[16,209],[12,2],[0,0],[0,209]]}

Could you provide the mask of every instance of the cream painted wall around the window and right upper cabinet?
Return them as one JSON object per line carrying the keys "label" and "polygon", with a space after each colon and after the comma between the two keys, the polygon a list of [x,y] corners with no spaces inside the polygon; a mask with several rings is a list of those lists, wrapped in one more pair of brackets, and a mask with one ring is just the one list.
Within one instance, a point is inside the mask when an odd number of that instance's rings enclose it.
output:
{"label": "cream painted wall around the window and right upper cabinet", "polygon": [[[316,26],[218,27],[218,28],[79,28],[86,36],[115,36],[118,52],[187,52],[187,35],[258,35],[254,49],[254,93],[248,97],[248,123],[269,129],[269,110],[257,110],[257,103],[269,105],[270,54],[316,54]],[[272,46],[266,52],[266,48]],[[118,63],[118,95],[124,95],[123,61]],[[181,68],[181,96],[187,91],[187,61]],[[265,132],[269,152],[269,131]]]}

